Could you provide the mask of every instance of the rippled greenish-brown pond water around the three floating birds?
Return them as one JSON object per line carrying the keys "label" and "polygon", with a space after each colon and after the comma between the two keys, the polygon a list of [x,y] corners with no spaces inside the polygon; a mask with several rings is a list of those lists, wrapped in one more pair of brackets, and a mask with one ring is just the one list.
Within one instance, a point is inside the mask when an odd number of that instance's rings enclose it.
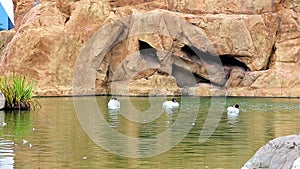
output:
{"label": "rippled greenish-brown pond water around the three floating birds", "polygon": [[[113,131],[132,138],[155,140],[177,126],[181,113],[196,112],[187,122],[189,133],[169,151],[147,158],[118,156],[95,144],[77,118],[73,98],[38,98],[42,105],[35,112],[0,111],[0,168],[240,168],[267,141],[300,132],[299,99],[227,98],[226,106],[238,103],[237,117],[227,115],[225,107],[217,129],[208,141],[199,135],[211,107],[209,98],[190,97],[182,109],[165,111],[165,98],[120,97],[121,109],[108,110],[109,97],[97,97],[99,113]],[[177,99],[181,102],[182,99]],[[197,106],[195,106],[197,105]],[[86,109],[86,116],[89,109]],[[132,114],[131,114],[132,112]],[[94,119],[95,120],[95,119]],[[137,122],[139,121],[140,122]],[[97,128],[102,124],[90,124]],[[147,154],[160,148],[153,142],[120,143],[110,131],[97,131],[111,138],[112,146]],[[165,137],[172,142],[174,133]],[[23,139],[28,141],[23,144]],[[158,142],[157,144],[168,144]]]}

